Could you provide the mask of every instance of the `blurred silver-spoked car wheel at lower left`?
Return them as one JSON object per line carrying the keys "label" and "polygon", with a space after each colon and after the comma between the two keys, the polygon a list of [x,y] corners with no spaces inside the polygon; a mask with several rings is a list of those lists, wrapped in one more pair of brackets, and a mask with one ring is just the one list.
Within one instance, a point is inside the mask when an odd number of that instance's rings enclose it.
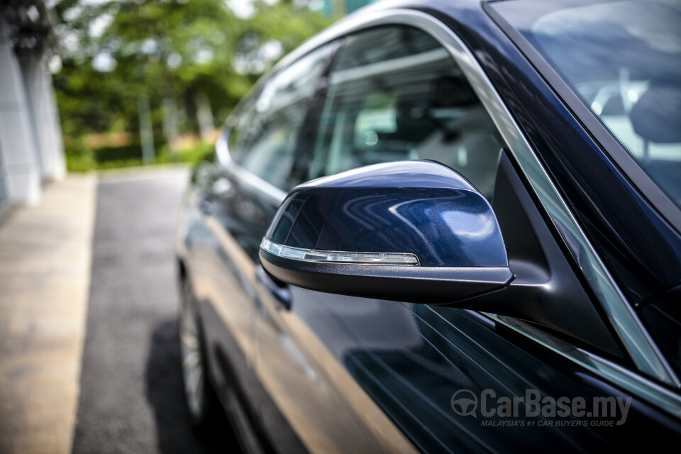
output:
{"label": "blurred silver-spoked car wheel at lower left", "polygon": [[216,409],[216,394],[208,376],[206,349],[194,296],[187,279],[182,282],[179,310],[179,349],[184,401],[197,431],[204,431]]}

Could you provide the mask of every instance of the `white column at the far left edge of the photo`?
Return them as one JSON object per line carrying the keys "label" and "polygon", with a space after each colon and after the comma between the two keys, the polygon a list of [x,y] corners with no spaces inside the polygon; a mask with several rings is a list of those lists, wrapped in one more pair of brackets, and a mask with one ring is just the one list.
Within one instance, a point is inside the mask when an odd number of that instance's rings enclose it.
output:
{"label": "white column at the far left edge of the photo", "polygon": [[40,203],[40,167],[21,68],[0,16],[0,153],[11,203]]}

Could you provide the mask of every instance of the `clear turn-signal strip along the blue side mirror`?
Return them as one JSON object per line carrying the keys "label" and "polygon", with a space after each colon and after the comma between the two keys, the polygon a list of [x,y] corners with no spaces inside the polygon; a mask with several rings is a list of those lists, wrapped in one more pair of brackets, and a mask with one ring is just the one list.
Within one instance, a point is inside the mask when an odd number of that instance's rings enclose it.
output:
{"label": "clear turn-signal strip along the blue side mirror", "polygon": [[419,258],[408,253],[353,253],[344,250],[294,248],[262,238],[260,249],[277,257],[302,262],[352,263],[355,265],[420,266]]}

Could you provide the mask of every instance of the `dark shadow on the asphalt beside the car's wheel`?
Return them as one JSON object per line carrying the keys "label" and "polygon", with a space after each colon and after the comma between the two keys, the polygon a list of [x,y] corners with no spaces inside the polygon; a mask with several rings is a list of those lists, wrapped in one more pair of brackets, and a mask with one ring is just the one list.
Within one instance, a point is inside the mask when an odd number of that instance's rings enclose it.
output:
{"label": "dark shadow on the asphalt beside the car's wheel", "polygon": [[160,453],[240,453],[225,416],[198,438],[184,404],[177,321],[161,323],[152,333],[145,370],[146,396],[153,409]]}

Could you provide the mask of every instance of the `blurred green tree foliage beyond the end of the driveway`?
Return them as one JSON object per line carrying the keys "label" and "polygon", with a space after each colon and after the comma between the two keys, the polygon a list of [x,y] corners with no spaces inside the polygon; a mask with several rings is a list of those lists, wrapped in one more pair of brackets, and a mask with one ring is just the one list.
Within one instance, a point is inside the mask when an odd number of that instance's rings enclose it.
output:
{"label": "blurred green tree foliage beyond the end of the driveway", "polygon": [[[53,79],[62,131],[72,143],[70,169],[128,162],[101,160],[103,153],[123,151],[88,151],[81,138],[126,131],[138,143],[140,96],[150,101],[157,143],[167,140],[162,109],[167,99],[179,110],[178,133],[198,133],[201,96],[220,125],[274,60],[328,26],[328,18],[297,6],[301,3],[255,0],[255,15],[243,20],[225,0],[57,2],[62,70]],[[102,23],[103,31],[92,33]],[[266,52],[276,43],[281,55]],[[107,60],[109,67],[101,64]]]}

